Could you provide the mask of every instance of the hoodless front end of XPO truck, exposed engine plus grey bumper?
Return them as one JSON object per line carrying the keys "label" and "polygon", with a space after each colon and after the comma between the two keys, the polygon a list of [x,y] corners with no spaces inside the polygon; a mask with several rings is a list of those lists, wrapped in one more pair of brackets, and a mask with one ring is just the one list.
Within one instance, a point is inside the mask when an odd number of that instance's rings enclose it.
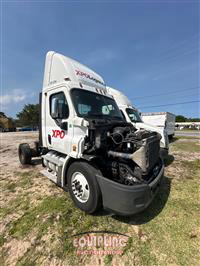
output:
{"label": "hoodless front end of XPO truck, exposed engine plus grey bumper", "polygon": [[164,173],[161,136],[132,124],[88,119],[84,157],[100,169],[96,178],[103,206],[120,215],[144,210],[156,195]]}

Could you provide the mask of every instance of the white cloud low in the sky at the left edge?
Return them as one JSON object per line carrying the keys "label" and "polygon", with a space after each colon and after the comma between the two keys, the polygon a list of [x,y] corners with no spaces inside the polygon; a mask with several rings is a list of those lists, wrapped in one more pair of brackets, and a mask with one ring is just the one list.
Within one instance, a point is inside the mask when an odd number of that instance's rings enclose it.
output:
{"label": "white cloud low in the sky at the left edge", "polygon": [[26,93],[21,89],[14,89],[8,94],[0,95],[0,104],[2,106],[12,103],[19,103],[27,98]]}

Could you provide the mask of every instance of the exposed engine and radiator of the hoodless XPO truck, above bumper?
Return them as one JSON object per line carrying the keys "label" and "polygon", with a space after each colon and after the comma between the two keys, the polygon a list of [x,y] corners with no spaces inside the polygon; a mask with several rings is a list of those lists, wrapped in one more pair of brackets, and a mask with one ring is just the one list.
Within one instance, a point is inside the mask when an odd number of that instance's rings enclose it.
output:
{"label": "exposed engine and radiator of the hoodless XPO truck, above bumper", "polygon": [[88,130],[84,154],[95,155],[93,160],[104,175],[126,185],[148,183],[157,175],[161,167],[158,133],[106,120],[90,120]]}

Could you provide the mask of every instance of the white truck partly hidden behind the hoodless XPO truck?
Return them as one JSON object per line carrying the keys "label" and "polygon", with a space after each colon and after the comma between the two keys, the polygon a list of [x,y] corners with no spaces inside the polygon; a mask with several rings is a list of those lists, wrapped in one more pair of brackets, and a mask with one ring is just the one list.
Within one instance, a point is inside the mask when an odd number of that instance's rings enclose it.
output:
{"label": "white truck partly hidden behind the hoodless XPO truck", "polygon": [[121,91],[117,89],[108,86],[106,88],[109,94],[114,97],[122,115],[124,116],[127,122],[132,123],[133,126],[138,130],[144,129],[147,131],[157,132],[161,135],[160,155],[163,159],[166,159],[169,153],[169,141],[166,130],[164,128],[159,128],[151,124],[145,123],[142,120],[138,110],[132,105],[131,101],[126,95],[124,95]]}

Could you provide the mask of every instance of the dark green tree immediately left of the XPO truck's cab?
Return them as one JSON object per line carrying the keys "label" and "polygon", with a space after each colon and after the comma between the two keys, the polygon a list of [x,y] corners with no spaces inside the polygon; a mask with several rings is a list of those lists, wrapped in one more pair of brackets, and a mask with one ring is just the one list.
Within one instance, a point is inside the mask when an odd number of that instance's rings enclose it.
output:
{"label": "dark green tree immediately left of the XPO truck's cab", "polygon": [[30,126],[36,128],[39,125],[39,104],[26,104],[23,110],[16,114],[17,126]]}

